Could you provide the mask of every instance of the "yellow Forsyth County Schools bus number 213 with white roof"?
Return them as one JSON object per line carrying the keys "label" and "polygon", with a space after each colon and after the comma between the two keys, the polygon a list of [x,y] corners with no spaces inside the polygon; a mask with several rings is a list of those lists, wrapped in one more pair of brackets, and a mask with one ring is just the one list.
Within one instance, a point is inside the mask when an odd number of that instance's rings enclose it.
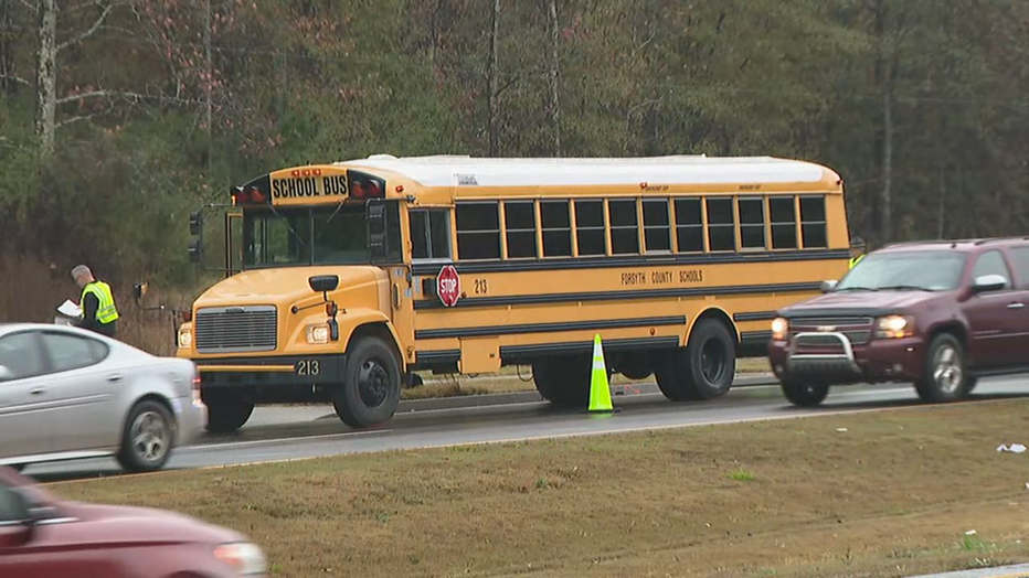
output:
{"label": "yellow Forsyth County Schools bus number 213 with white roof", "polygon": [[233,188],[241,270],[195,300],[179,355],[214,431],[282,402],[383,424],[416,371],[530,365],[543,398],[583,405],[596,334],[609,372],[709,399],[764,354],[777,308],[847,270],[842,191],[767,157],[277,170]]}

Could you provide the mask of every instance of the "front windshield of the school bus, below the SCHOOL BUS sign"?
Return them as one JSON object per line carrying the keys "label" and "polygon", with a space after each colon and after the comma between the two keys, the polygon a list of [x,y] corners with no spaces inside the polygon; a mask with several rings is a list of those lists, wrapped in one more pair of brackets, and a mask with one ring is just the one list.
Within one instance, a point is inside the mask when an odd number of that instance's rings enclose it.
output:
{"label": "front windshield of the school bus, below the SCHOOL BUS sign", "polygon": [[246,211],[244,267],[369,263],[363,206]]}

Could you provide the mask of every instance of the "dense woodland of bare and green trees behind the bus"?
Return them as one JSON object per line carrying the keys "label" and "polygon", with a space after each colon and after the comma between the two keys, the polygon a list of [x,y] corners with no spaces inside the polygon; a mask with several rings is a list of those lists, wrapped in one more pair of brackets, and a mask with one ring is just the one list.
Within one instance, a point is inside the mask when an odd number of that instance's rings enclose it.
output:
{"label": "dense woodland of bare and green trees behind the bus", "polygon": [[1021,0],[0,0],[9,250],[194,280],[187,215],[275,168],[778,156],[873,243],[1027,232]]}

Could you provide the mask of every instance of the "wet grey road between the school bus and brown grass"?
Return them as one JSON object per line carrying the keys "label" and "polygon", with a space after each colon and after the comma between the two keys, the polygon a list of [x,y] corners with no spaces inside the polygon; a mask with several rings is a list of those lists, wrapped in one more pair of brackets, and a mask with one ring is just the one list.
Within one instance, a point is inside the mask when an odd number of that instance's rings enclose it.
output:
{"label": "wet grey road between the school bus and brown grass", "polygon": [[[1029,396],[1025,376],[983,379],[972,399]],[[818,408],[791,406],[778,386],[733,388],[723,398],[677,404],[659,394],[615,396],[619,413],[593,416],[555,410],[545,403],[521,403],[397,414],[385,427],[354,431],[329,406],[259,407],[232,436],[205,436],[180,448],[168,469],[206,468],[453,445],[588,436],[755,419],[782,419],[840,411],[916,405],[910,386],[837,387]],[[30,465],[25,473],[42,482],[120,473],[110,459]]]}

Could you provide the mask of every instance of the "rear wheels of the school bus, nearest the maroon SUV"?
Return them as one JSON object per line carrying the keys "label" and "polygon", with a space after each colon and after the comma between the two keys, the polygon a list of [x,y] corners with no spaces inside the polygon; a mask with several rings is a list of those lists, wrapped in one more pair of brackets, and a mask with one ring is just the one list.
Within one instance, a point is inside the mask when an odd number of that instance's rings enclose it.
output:
{"label": "rear wheels of the school bus, nearest the maroon SUV", "polygon": [[665,397],[711,399],[729,393],[736,371],[736,351],[725,325],[713,320],[700,321],[690,333],[686,347],[670,352],[656,372],[657,385]]}

